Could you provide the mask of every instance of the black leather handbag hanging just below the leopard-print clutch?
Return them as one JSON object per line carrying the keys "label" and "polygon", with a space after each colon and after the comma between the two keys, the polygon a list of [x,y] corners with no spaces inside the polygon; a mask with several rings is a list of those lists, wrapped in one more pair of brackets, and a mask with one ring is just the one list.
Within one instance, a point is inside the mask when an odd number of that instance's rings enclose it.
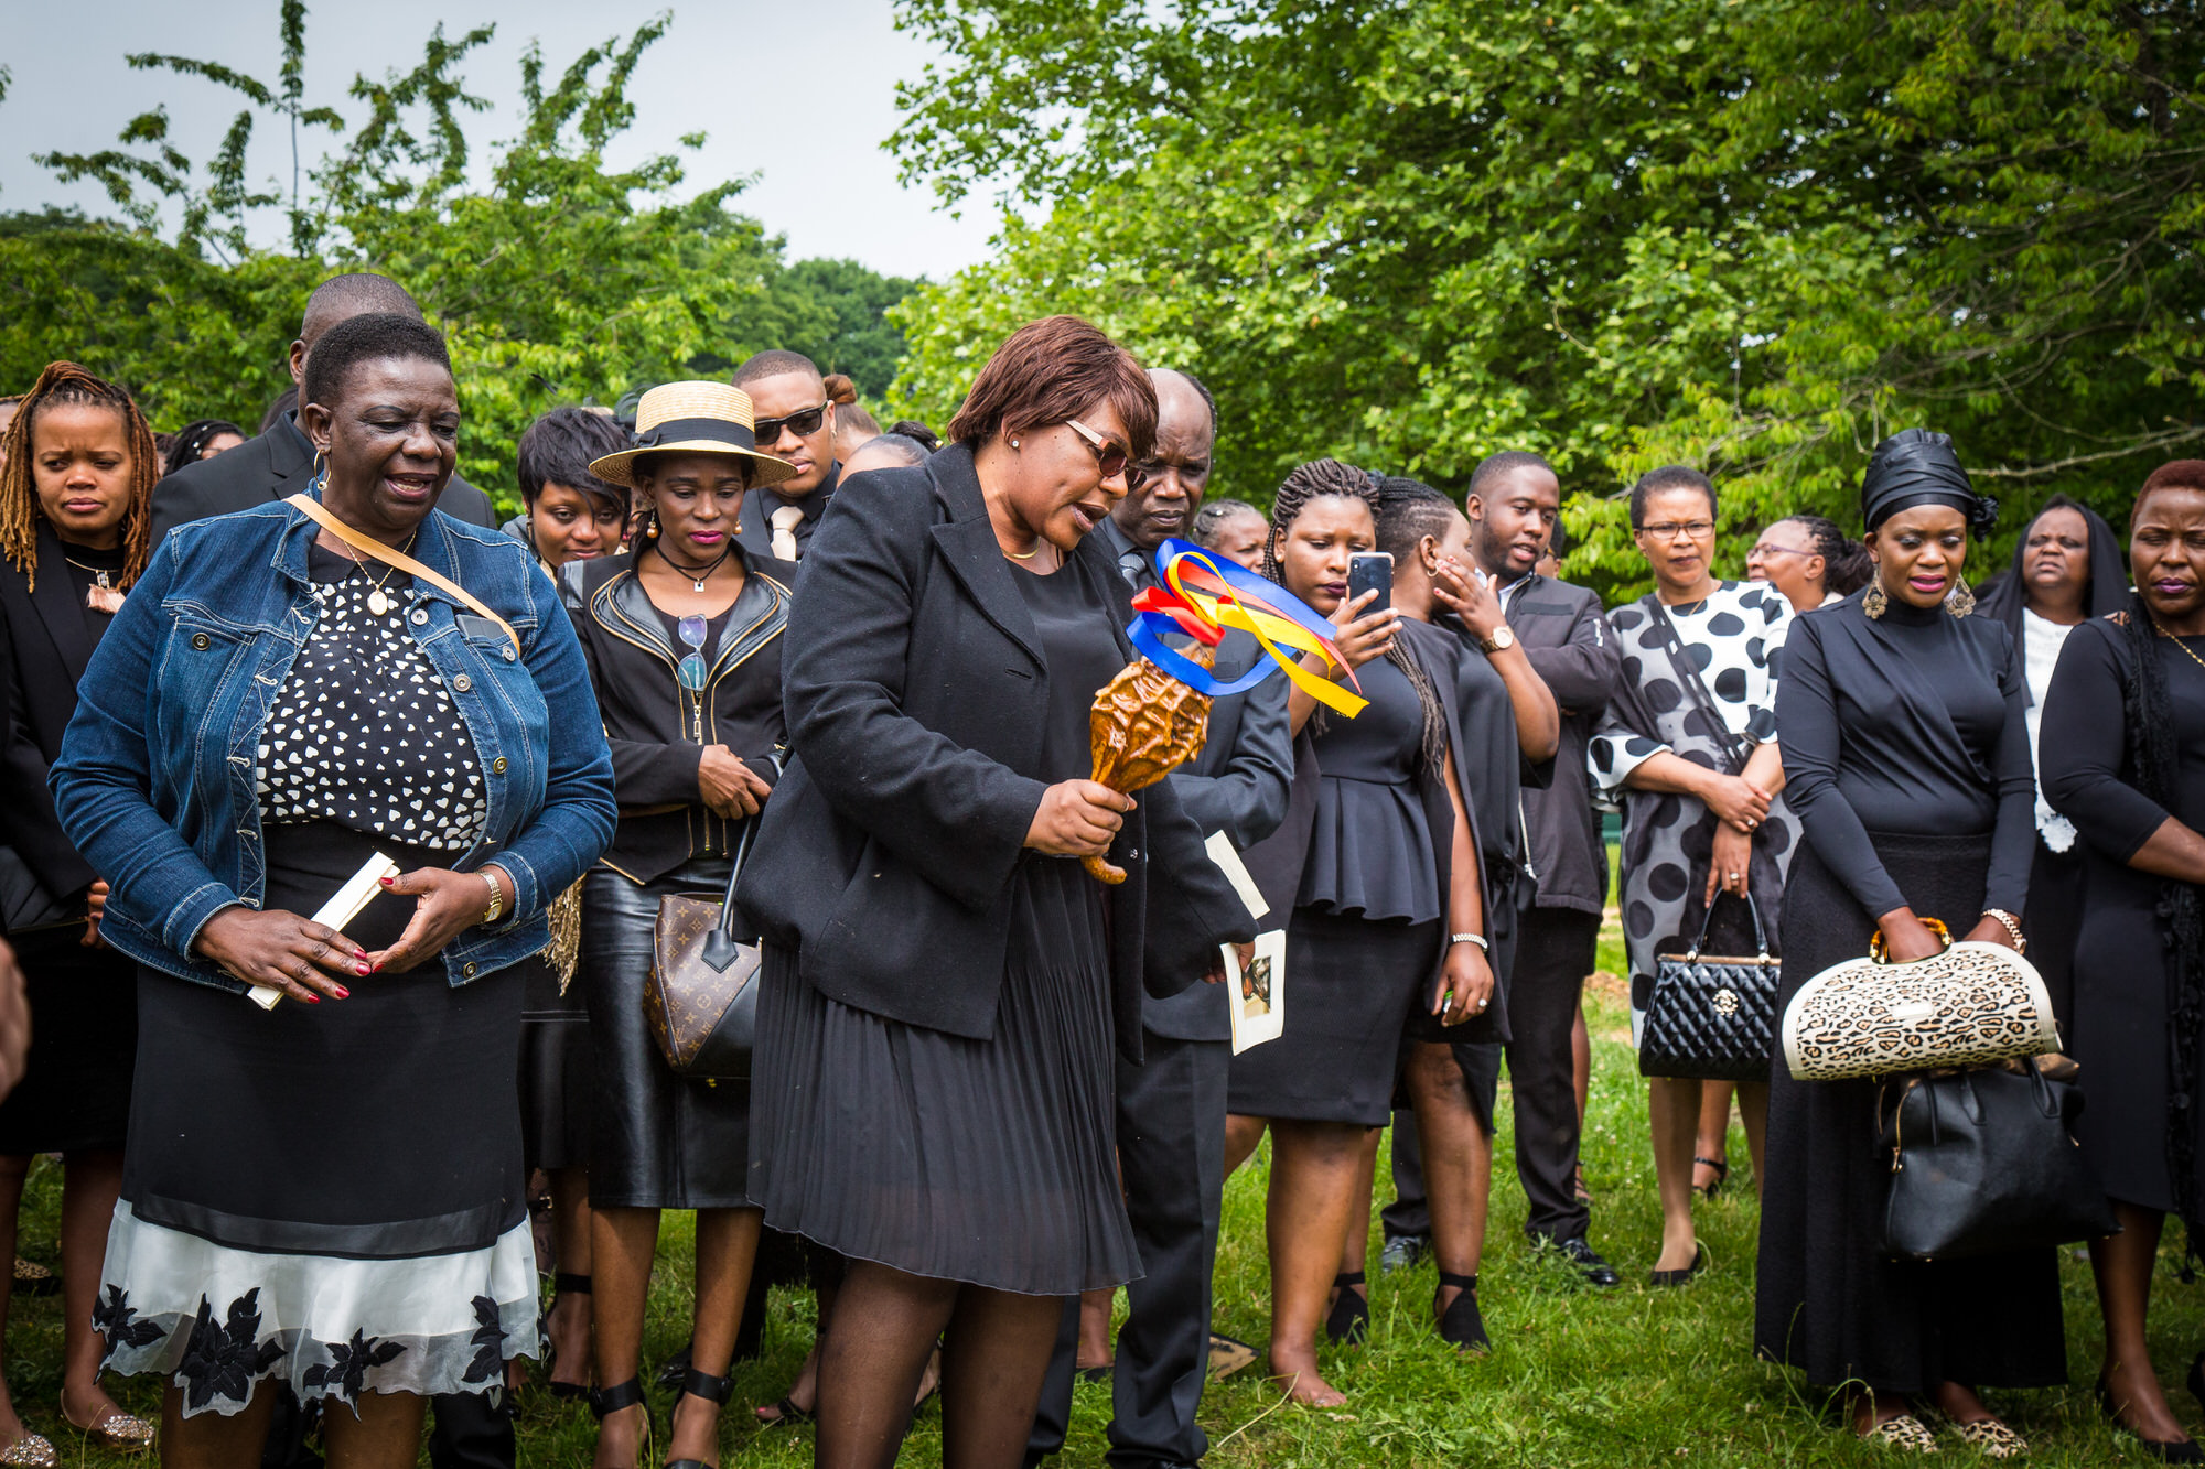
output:
{"label": "black leather handbag hanging just below the leopard-print clutch", "polygon": [[[1896,1096],[1894,1096],[1896,1090]],[[2121,1233],[2075,1143],[2082,1087],[2029,1063],[1921,1072],[1883,1087],[1885,1255],[1958,1259]]]}

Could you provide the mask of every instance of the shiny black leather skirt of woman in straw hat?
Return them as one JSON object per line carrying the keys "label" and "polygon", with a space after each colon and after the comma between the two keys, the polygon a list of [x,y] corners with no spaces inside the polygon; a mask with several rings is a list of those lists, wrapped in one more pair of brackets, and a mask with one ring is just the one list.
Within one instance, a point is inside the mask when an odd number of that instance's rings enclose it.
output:
{"label": "shiny black leather skirt of woman in straw hat", "polygon": [[595,1094],[589,1202],[602,1209],[741,1209],[750,1204],[750,1087],[684,1081],[644,1019],[650,929],[659,898],[728,887],[728,858],[677,867],[655,882],[617,871],[582,880],[582,962]]}

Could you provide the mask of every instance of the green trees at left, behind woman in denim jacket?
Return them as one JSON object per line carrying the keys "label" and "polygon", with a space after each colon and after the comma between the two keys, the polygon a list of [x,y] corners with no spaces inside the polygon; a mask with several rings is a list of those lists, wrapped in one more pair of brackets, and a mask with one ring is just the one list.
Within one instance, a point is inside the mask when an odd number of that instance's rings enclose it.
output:
{"label": "green trees at left, behind woman in denim jacket", "polygon": [[[73,212],[0,216],[0,384],[24,386],[55,357],[128,384],[157,423],[229,417],[258,423],[289,386],[284,353],[306,293],[342,269],[381,271],[421,302],[452,344],[463,410],[459,468],[518,507],[512,476],[520,430],[560,404],[613,404],[673,377],[717,375],[752,351],[794,346],[886,388],[902,337],[889,304],[917,282],[847,260],[783,262],[783,240],[736,212],[741,179],[684,196],[681,154],[606,163],[635,121],[637,60],[668,26],[549,68],[520,62],[525,115],[487,150],[467,119],[487,104],[463,64],[490,26],[445,37],[384,79],[355,77],[362,110],[306,106],[304,7],[282,7],[284,62],[273,84],[218,62],[139,55],[132,66],[240,93],[207,183],[168,141],[163,108],[132,119],[119,148],[44,159],[57,176],[95,179],[128,223]],[[247,185],[254,117],[342,135],[284,194]],[[703,139],[684,139],[695,150]],[[172,238],[157,229],[176,205]],[[282,205],[289,251],[247,240],[254,210]]]}

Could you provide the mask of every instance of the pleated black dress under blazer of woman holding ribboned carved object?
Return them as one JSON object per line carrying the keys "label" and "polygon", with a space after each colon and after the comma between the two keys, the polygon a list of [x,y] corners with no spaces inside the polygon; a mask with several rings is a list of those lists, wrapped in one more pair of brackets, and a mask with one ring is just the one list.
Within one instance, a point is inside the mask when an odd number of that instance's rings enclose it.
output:
{"label": "pleated black dress under blazer of woman holding ribboned carved object", "polygon": [[[1091,772],[1087,712],[1125,666],[1122,593],[1083,560],[1012,571],[1047,657],[1039,781]],[[765,946],[752,1193],[772,1229],[853,1259],[1019,1295],[1140,1275],[1118,1191],[1102,887],[1028,851],[1010,884],[994,1034],[972,1041],[820,995]],[[959,955],[942,955],[953,971]],[[955,986],[955,975],[944,975]],[[770,1129],[770,1132],[767,1132]]]}

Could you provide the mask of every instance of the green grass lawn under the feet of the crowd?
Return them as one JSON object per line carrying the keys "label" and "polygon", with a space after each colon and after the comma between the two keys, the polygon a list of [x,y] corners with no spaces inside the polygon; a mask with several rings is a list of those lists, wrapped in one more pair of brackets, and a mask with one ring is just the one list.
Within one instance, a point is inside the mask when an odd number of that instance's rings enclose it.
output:
{"label": "green grass lawn under the feet of the crowd", "polygon": [[[1621,951],[1610,933],[1603,968],[1621,973]],[[1341,1469],[1343,1465],[1660,1465],[1762,1469],[1766,1465],[1892,1465],[1885,1451],[1857,1445],[1839,1432],[1837,1412],[1788,1372],[1749,1354],[1753,1317],[1755,1204],[1744,1136],[1731,1129],[1731,1187],[1700,1209],[1700,1235],[1715,1266],[1680,1290],[1649,1290],[1641,1282],[1654,1264],[1658,1211],[1654,1165],[1645,1140],[1645,1085],[1627,1046],[1621,993],[1603,988],[1592,1004],[1594,1081],[1592,1127],[1585,1143],[1590,1184],[1596,1193],[1594,1244],[1616,1262],[1625,1284],[1610,1293],[1577,1290],[1572,1282],[1532,1262],[1524,1246],[1524,1195],[1508,1167],[1508,1090],[1502,1087],[1502,1138],[1493,1187],[1493,1231],[1480,1279],[1480,1299],[1495,1350],[1486,1359],[1449,1352],[1431,1330],[1431,1266],[1380,1277],[1372,1270],[1372,1337],[1360,1348],[1325,1354],[1325,1374],[1352,1398],[1341,1412],[1279,1407],[1257,1370],[1213,1385],[1202,1405],[1217,1469],[1263,1467]],[[1261,1343],[1268,1330],[1263,1266],[1263,1162],[1233,1178],[1226,1191],[1226,1231],[1217,1259],[1217,1330]],[[1380,1171],[1383,1176],[1383,1171]],[[24,1253],[53,1264],[60,1171],[40,1169],[24,1218]],[[659,1284],[653,1293],[646,1348],[650,1359],[686,1337],[688,1308],[679,1282],[688,1270],[688,1220],[668,1215]],[[2205,1345],[2198,1290],[2161,1264],[2159,1312],[2152,1350],[2170,1387],[2179,1390],[2192,1352]],[[2130,1438],[2099,1420],[2088,1383],[2097,1372],[2097,1301],[2088,1266],[2064,1262],[2068,1372],[2075,1385],[2053,1392],[1991,1394],[1993,1409],[2029,1436],[2035,1465],[2143,1465]],[[774,1295],[763,1361],[739,1370],[736,1398],[721,1436],[725,1465],[805,1465],[809,1429],[752,1429],[750,1405],[772,1403],[811,1339],[811,1301],[803,1293]],[[40,1432],[53,1436],[64,1465],[121,1465],[128,1460],[84,1451],[55,1412],[60,1392],[60,1304],[18,1301],[7,1376],[15,1403]],[[152,1412],[148,1379],[119,1383],[126,1407]],[[668,1401],[655,1396],[664,1429]],[[2179,1394],[2176,1414],[2198,1427],[2198,1409]],[[1065,1469],[1102,1462],[1109,1385],[1078,1390]],[[928,1405],[913,1427],[904,1458],[939,1462],[942,1418]],[[580,1405],[525,1396],[520,1462],[545,1467],[589,1465],[593,1429]],[[662,1440],[664,1443],[664,1440]],[[664,1449],[662,1449],[664,1451]],[[1938,1462],[1971,1462],[1945,1440]],[[423,1456],[426,1465],[428,1458]]]}

